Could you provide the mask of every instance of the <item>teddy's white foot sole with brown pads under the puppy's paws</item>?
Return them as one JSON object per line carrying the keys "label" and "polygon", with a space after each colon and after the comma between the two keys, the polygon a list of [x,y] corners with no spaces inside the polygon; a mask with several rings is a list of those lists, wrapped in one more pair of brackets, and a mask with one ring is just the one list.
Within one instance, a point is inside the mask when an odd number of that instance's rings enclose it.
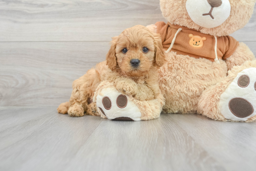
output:
{"label": "teddy's white foot sole with brown pads under the puppy's paws", "polygon": [[114,87],[101,90],[97,96],[97,106],[102,115],[110,120],[140,121],[141,112],[128,95],[123,95]]}

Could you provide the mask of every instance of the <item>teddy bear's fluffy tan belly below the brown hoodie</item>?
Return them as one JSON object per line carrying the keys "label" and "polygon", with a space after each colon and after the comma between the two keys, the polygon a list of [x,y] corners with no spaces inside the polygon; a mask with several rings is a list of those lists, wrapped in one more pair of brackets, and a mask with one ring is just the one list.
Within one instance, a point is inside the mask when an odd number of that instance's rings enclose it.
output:
{"label": "teddy bear's fluffy tan belly below the brown hoodie", "polygon": [[160,88],[166,98],[165,113],[196,113],[201,93],[227,76],[227,65],[205,58],[169,52],[160,68]]}

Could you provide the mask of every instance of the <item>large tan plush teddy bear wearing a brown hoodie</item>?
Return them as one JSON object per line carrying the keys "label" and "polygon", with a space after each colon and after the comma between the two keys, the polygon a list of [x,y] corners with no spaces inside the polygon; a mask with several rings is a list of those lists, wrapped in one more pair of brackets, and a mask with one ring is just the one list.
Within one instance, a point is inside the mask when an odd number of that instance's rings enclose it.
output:
{"label": "large tan plush teddy bear wearing a brown hoodie", "polygon": [[[228,36],[249,21],[254,4],[255,0],[160,0],[168,23],[148,28],[161,35],[166,50],[167,62],[159,75],[165,113],[197,113],[222,121],[256,119],[255,57],[244,43]],[[102,87],[96,95],[99,92],[97,105],[102,107],[107,91]]]}

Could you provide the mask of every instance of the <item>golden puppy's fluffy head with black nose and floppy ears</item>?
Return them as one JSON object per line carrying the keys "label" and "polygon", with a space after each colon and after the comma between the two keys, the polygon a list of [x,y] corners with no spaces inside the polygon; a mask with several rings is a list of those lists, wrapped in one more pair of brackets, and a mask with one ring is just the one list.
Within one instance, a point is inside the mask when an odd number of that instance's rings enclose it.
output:
{"label": "golden puppy's fluffy head with black nose and floppy ears", "polygon": [[148,28],[137,25],[114,37],[106,55],[107,65],[122,75],[140,77],[165,62],[162,40]]}

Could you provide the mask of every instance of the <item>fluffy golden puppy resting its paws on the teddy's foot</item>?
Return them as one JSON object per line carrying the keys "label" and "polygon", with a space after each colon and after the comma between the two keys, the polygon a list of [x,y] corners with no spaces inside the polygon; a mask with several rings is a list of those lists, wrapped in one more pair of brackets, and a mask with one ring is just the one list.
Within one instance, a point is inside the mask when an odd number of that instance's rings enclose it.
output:
{"label": "fluffy golden puppy resting its paws on the teddy's foot", "polygon": [[[136,59],[140,63],[134,67],[131,60]],[[73,82],[69,102],[60,104],[57,110],[74,117],[84,116],[84,113],[100,116],[92,98],[104,80],[113,82],[123,94],[132,95],[140,101],[152,100],[159,94],[158,68],[164,62],[162,40],[158,34],[141,25],[128,28],[113,38],[106,61]]]}

